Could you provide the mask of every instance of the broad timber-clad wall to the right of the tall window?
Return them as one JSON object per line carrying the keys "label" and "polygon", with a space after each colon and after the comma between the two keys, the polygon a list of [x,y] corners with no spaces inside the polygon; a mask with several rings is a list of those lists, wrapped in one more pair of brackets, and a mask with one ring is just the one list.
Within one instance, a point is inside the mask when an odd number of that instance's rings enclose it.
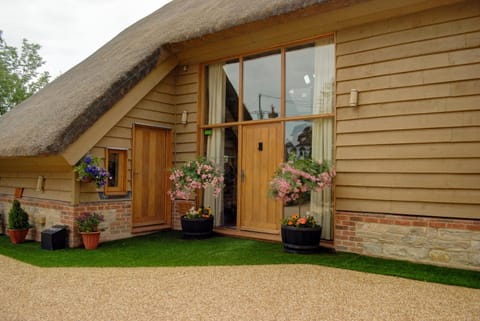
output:
{"label": "broad timber-clad wall to the right of the tall window", "polygon": [[480,218],[480,4],[336,41],[337,210]]}

